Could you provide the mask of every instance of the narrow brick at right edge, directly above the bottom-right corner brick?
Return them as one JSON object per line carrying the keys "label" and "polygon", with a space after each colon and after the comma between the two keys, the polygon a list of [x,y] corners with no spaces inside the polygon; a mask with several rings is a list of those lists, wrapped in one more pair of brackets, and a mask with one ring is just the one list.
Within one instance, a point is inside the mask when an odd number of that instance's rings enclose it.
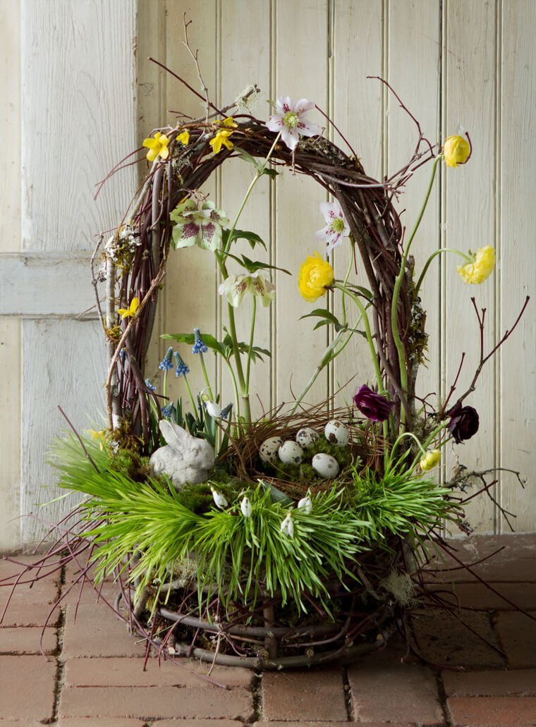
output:
{"label": "narrow brick at right edge, directly above the bottom-right corner brick", "polygon": [[536,669],[443,672],[447,696],[536,696]]}

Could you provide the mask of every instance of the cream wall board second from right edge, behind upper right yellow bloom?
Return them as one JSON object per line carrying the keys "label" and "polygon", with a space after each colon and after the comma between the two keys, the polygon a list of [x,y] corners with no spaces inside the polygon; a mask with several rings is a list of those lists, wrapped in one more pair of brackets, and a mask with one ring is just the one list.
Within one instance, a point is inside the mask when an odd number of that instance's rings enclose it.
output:
{"label": "cream wall board second from right edge, behind upper right yellow bloom", "polygon": [[[495,5],[485,0],[467,3],[449,0],[444,7],[444,135],[471,135],[473,156],[467,166],[444,167],[447,247],[467,252],[494,244],[497,189],[495,182]],[[451,403],[467,390],[479,363],[479,329],[471,305],[487,309],[486,342],[494,331],[494,278],[481,285],[468,285],[457,274],[463,259],[449,255],[442,261],[444,272],[444,380],[443,392],[454,382],[460,357],[465,362]],[[475,393],[464,405],[473,406],[480,417],[480,429],[471,441],[453,446],[447,457],[447,476],[457,457],[471,469],[495,465],[495,379],[494,364],[485,367]],[[495,492],[497,494],[497,492]],[[478,532],[495,529],[496,513],[486,497],[476,498],[466,510],[468,521]]]}

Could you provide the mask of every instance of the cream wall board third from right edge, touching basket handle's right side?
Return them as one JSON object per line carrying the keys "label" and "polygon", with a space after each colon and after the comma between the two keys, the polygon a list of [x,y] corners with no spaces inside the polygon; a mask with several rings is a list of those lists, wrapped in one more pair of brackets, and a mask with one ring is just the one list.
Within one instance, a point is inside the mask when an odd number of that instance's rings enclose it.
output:
{"label": "cream wall board third from right edge, touching basket handle's right side", "polygon": [[[389,2],[387,80],[407,110],[415,116],[423,134],[431,144],[435,144],[439,136],[440,33],[439,2],[429,0]],[[396,97],[387,92],[386,98],[387,173],[393,174],[411,158],[419,132],[415,122],[407,111],[401,108]],[[425,145],[422,146],[422,150],[425,150]],[[401,214],[401,222],[406,230],[405,241],[408,240],[423,206],[431,172],[431,162],[417,169],[407,182],[404,193],[396,200],[396,208]],[[416,279],[420,276],[426,260],[438,249],[439,244],[439,174],[437,174],[435,188],[412,243]],[[439,258],[436,258],[428,270],[428,276],[421,289],[420,297],[423,309],[427,313],[428,364],[420,366],[417,379],[418,395],[426,396],[435,392],[429,400],[432,405],[439,398],[438,374],[441,350],[439,279]]]}

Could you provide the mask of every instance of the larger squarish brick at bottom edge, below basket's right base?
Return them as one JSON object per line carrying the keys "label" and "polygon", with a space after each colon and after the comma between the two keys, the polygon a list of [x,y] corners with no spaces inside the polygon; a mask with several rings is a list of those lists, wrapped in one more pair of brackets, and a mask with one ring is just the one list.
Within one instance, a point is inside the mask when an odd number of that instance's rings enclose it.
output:
{"label": "larger squarish brick at bottom edge, below basket's right base", "polygon": [[402,720],[442,724],[436,678],[420,666],[348,669],[353,713],[359,722]]}

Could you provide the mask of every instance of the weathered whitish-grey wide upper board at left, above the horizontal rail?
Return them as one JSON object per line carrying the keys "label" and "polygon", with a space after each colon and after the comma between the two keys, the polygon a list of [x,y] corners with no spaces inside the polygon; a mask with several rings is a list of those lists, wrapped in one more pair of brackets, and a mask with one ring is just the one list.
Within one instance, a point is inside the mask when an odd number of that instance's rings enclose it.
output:
{"label": "weathered whitish-grey wide upper board at left, above the horizontal rail", "polygon": [[132,196],[135,0],[21,4],[23,247],[93,249]]}

